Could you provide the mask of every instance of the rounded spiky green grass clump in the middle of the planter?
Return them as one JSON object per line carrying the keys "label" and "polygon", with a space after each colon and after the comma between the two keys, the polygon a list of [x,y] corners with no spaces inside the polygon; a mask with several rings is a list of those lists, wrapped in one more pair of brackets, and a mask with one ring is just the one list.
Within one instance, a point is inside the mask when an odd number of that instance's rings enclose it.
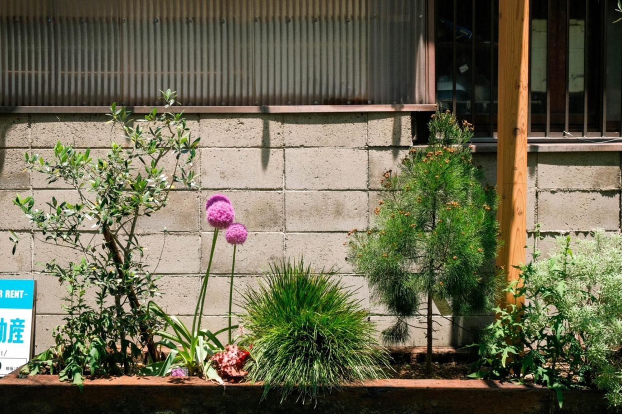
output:
{"label": "rounded spiky green grass clump in the middle of the planter", "polygon": [[388,352],[374,339],[368,313],[332,272],[313,274],[299,262],[271,266],[266,283],[244,295],[242,320],[252,345],[245,369],[251,382],[264,382],[302,401],[341,385],[385,377]]}

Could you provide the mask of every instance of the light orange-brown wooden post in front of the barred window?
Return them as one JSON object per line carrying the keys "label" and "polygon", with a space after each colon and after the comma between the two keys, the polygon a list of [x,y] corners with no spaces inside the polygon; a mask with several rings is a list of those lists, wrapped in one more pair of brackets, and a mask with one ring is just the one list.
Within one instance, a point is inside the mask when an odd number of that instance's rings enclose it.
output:
{"label": "light orange-brown wooden post in front of the barred window", "polygon": [[[503,245],[497,265],[512,281],[520,275],[514,266],[526,260],[529,0],[499,0],[498,80],[497,190]],[[511,295],[504,300],[501,305],[514,303]]]}

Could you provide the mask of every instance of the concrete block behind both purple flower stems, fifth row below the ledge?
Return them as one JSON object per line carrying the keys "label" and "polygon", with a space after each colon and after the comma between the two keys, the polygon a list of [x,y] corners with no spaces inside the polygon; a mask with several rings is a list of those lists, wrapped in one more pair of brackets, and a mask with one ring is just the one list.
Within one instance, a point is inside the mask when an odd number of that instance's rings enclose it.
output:
{"label": "concrete block behind both purple flower stems, fifth row below the ledge", "polygon": [[[238,276],[233,278],[233,301],[231,313],[244,312],[244,294],[249,288],[256,289],[259,286],[260,276]],[[229,314],[229,288],[231,278],[226,276],[210,276],[207,285],[207,296],[203,315],[228,315]]]}

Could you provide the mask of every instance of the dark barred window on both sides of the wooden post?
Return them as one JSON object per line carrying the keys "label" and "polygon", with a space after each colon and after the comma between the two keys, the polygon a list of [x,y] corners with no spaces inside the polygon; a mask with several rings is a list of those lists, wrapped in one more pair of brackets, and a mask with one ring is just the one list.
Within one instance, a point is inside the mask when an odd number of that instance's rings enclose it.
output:
{"label": "dark barred window on both sides of the wooden post", "polygon": [[[617,0],[531,1],[529,137],[621,137]],[[437,99],[492,137],[498,1],[437,0]]]}

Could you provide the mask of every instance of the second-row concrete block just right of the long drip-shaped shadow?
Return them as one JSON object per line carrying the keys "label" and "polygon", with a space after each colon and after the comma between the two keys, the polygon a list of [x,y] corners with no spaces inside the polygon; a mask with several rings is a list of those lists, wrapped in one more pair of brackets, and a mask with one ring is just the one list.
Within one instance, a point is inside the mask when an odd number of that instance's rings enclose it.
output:
{"label": "second-row concrete block just right of the long drip-shaped shadow", "polygon": [[285,187],[288,190],[363,190],[366,186],[366,150],[285,150]]}

